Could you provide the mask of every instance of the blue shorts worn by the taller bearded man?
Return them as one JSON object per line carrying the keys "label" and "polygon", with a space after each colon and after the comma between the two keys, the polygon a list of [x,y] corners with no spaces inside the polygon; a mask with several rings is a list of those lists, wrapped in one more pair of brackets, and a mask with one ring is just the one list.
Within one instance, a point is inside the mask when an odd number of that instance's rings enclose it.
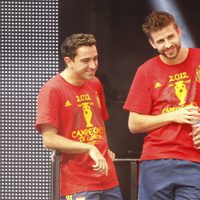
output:
{"label": "blue shorts worn by the taller bearded man", "polygon": [[140,200],[200,200],[200,163],[142,161],[139,177]]}

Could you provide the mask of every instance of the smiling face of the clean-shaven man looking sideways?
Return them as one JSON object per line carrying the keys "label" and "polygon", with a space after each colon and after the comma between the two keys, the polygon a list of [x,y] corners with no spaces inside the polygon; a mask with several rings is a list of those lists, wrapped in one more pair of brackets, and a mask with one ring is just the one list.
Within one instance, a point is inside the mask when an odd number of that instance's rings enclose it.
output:
{"label": "smiling face of the clean-shaven man looking sideways", "polygon": [[73,78],[77,81],[91,80],[95,77],[98,67],[98,53],[95,45],[82,46],[77,49],[74,60],[70,59],[68,67],[73,72]]}

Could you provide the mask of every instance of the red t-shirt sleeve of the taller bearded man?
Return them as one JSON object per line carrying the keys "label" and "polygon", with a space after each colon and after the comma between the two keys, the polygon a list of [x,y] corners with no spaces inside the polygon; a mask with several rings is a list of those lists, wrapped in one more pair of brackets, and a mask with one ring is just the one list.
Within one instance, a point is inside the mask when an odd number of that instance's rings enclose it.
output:
{"label": "red t-shirt sleeve of the taller bearded man", "polygon": [[151,107],[152,98],[148,85],[148,75],[144,70],[139,68],[135,74],[123,108],[130,112],[149,114]]}

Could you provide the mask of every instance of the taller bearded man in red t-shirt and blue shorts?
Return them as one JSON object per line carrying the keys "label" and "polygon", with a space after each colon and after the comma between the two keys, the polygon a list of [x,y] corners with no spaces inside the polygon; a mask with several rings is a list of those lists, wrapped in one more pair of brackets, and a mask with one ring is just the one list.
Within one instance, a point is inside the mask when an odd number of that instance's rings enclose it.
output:
{"label": "taller bearded man in red t-shirt and blue shorts", "polygon": [[143,24],[159,53],[141,65],[124,109],[132,133],[146,132],[140,200],[200,199],[200,49],[181,46],[174,17],[150,13]]}

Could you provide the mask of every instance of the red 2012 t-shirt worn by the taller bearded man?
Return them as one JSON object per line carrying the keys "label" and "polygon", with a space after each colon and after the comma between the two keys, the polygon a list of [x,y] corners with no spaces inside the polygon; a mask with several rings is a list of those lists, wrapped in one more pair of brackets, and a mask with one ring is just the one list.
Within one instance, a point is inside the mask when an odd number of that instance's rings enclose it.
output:
{"label": "red 2012 t-shirt worn by the taller bearded man", "polygon": [[[189,49],[187,59],[166,65],[159,56],[140,66],[123,106],[130,112],[158,115],[187,105],[200,106],[200,49]],[[171,123],[147,133],[141,160],[162,158],[200,162],[193,147],[191,125]]]}

